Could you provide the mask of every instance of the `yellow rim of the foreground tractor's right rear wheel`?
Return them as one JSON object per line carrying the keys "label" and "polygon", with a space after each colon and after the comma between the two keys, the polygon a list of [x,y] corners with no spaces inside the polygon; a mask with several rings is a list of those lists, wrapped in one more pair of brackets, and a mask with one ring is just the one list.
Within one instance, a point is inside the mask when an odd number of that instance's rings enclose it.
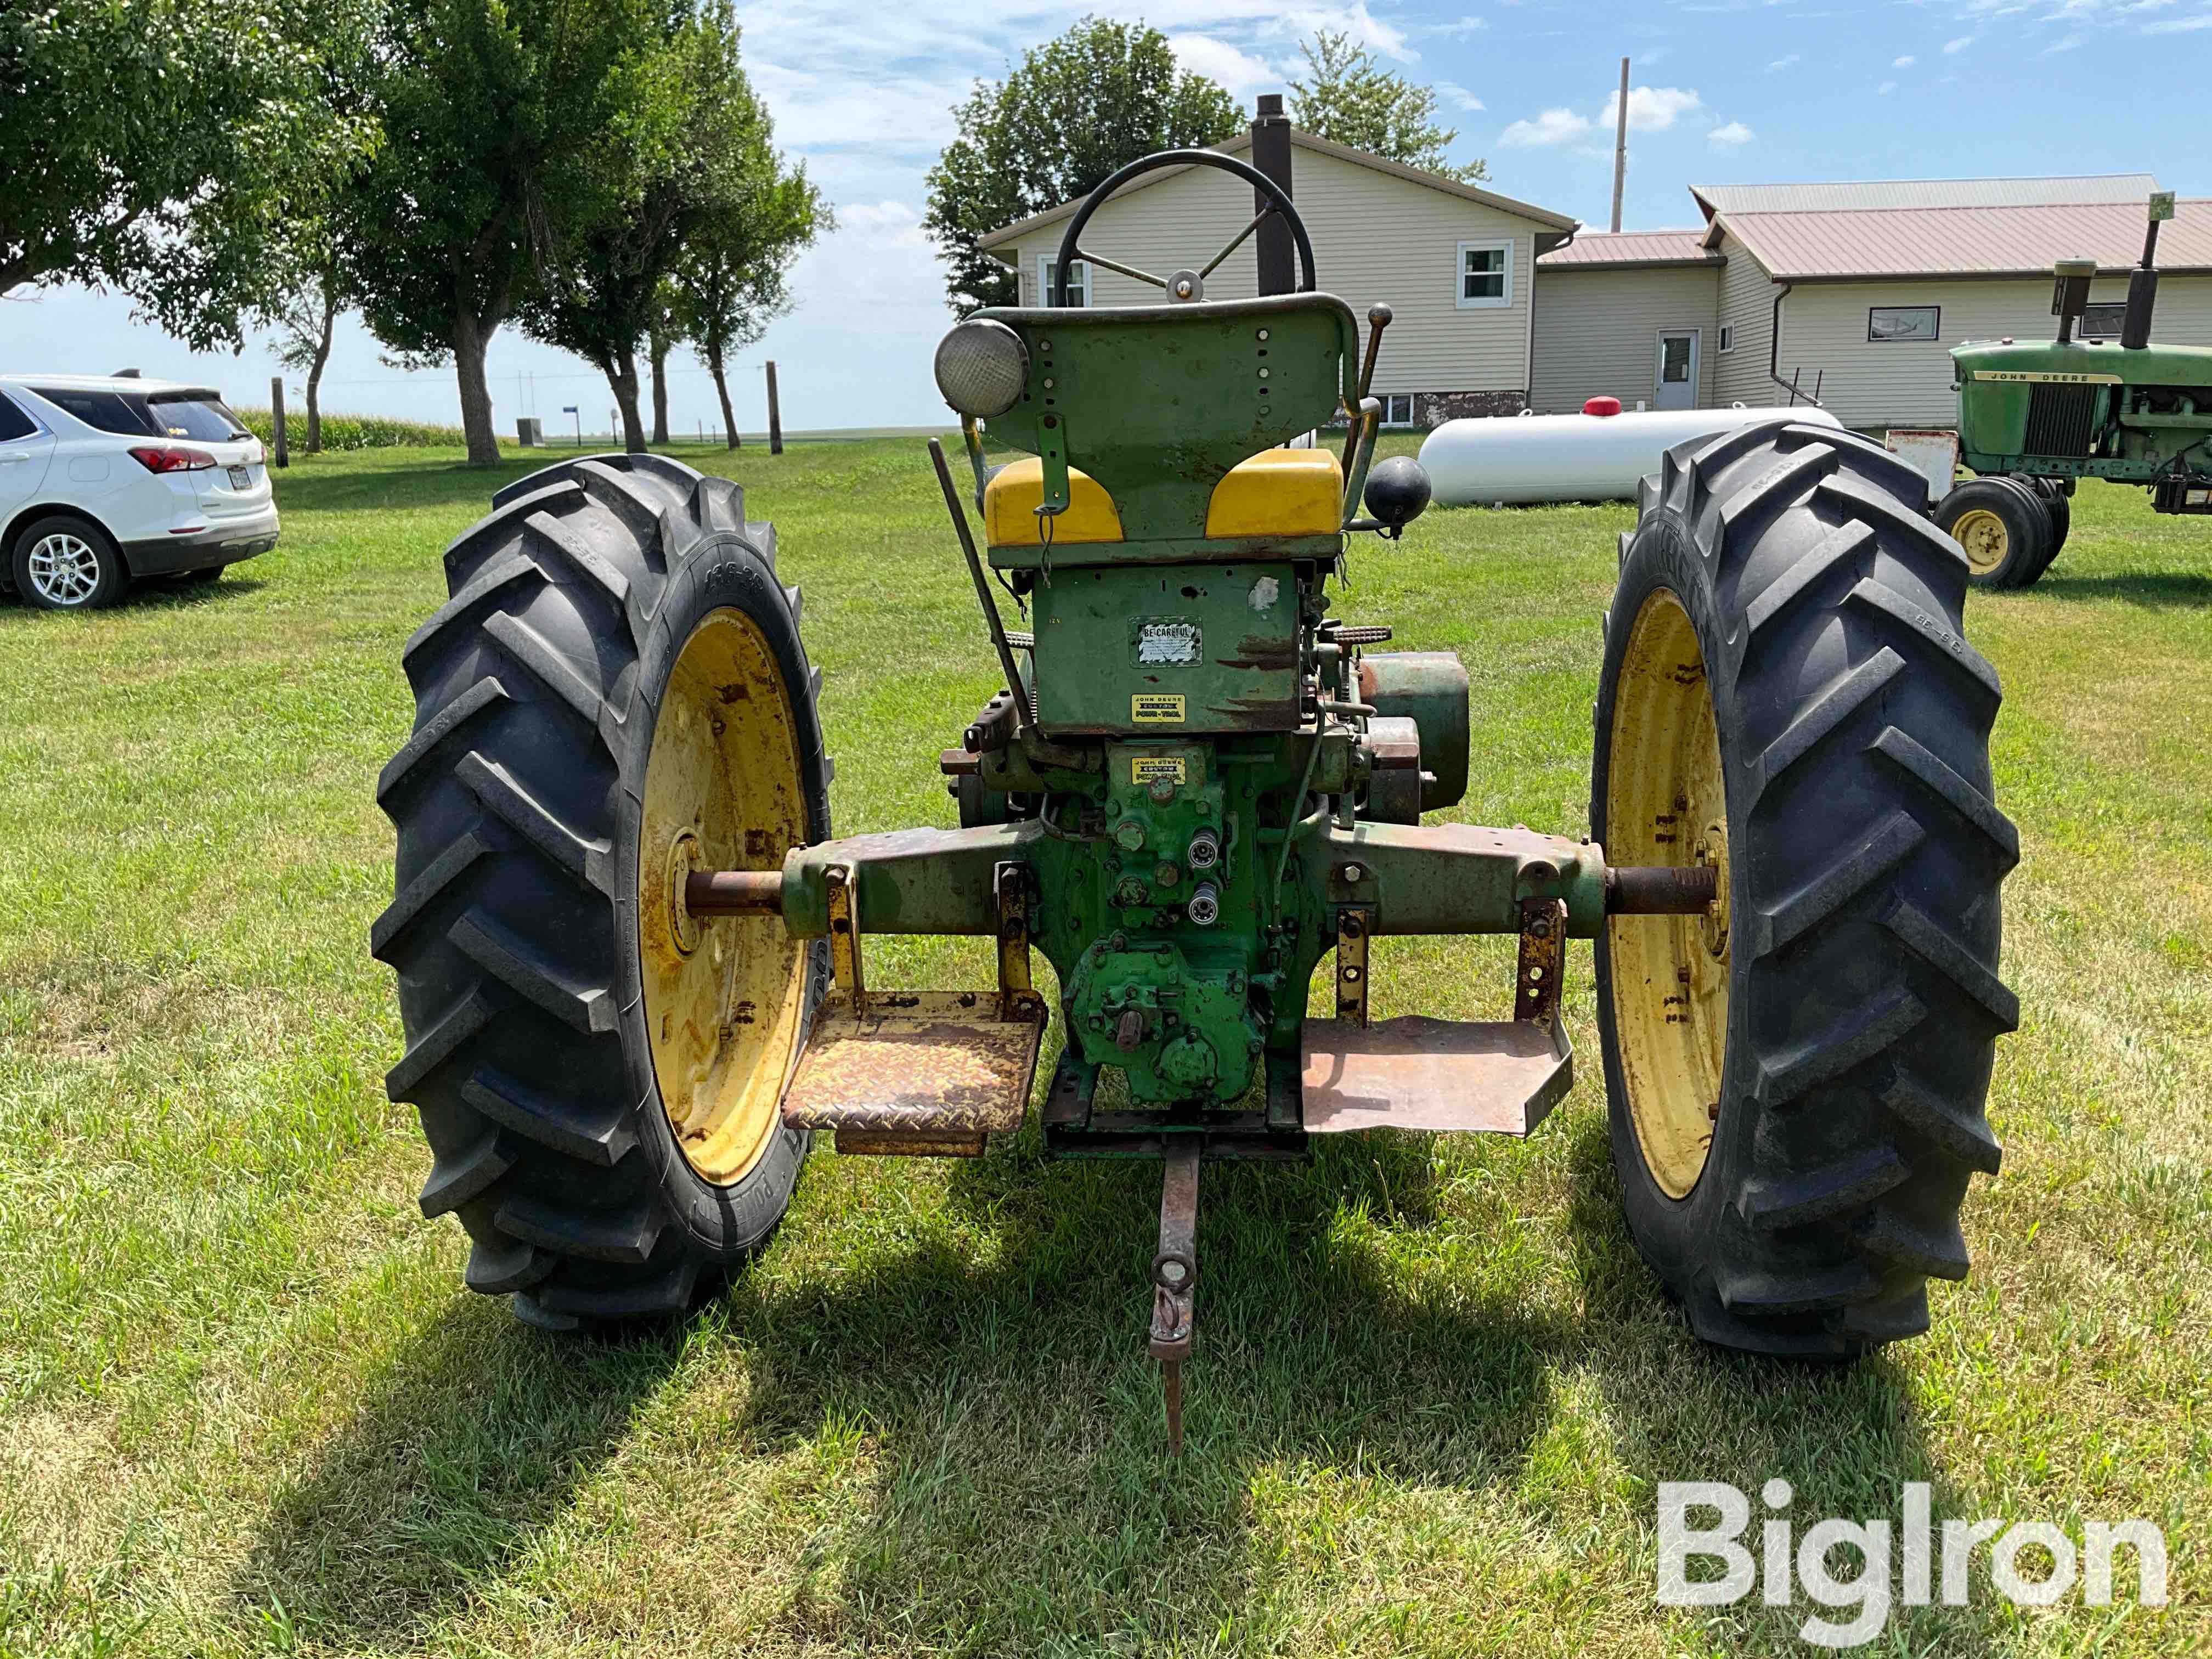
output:
{"label": "yellow rim of the foreground tractor's right rear wheel", "polygon": [[1655,588],[1628,633],[1606,759],[1606,856],[1719,867],[1710,916],[1615,916],[1613,1029],[1652,1181],[1688,1197],[1712,1150],[1728,1040],[1728,796],[1697,628]]}

